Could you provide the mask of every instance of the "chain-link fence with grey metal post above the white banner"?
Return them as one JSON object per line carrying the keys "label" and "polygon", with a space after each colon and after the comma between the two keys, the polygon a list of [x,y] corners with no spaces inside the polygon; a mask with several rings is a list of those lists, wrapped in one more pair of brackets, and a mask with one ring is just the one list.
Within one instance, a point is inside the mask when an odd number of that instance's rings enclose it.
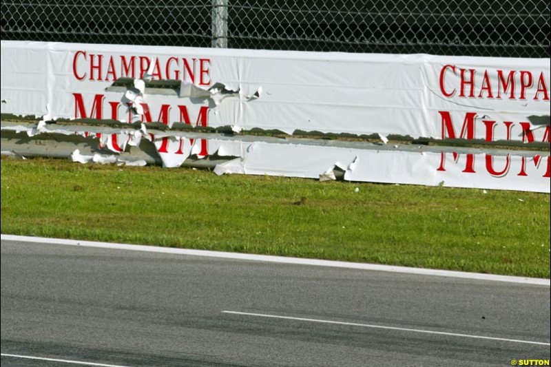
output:
{"label": "chain-link fence with grey metal post above the white banner", "polygon": [[549,0],[6,0],[1,39],[549,57]]}

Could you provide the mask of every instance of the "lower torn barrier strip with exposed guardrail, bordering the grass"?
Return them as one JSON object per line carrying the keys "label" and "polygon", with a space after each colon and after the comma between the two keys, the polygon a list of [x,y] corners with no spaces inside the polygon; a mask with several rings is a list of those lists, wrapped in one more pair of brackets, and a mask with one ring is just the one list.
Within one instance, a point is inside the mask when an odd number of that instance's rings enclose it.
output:
{"label": "lower torn barrier strip with exposed guardrail, bordering the grass", "polygon": [[[39,123],[39,126],[41,123]],[[75,162],[207,167],[254,174],[550,192],[549,151],[228,136],[54,124],[2,123],[2,154]],[[40,131],[39,131],[40,130]]]}

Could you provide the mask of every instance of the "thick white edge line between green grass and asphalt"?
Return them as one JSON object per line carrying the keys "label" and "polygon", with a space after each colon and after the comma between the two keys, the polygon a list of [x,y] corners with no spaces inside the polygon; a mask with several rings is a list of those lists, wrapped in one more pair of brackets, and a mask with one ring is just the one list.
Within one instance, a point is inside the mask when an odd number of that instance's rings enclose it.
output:
{"label": "thick white edge line between green grass and asphalt", "polygon": [[57,239],[57,238],[29,237],[24,235],[2,234],[1,240],[17,241],[17,242],[37,242],[41,244],[65,244],[68,246],[96,247],[101,249],[146,251],[146,252],[154,252],[154,253],[171,253],[171,254],[178,254],[178,255],[205,256],[209,258],[224,258],[224,259],[247,260],[247,261],[258,261],[258,262],[277,262],[280,264],[327,266],[327,267],[343,268],[343,269],[386,271],[391,273],[434,275],[434,276],[440,276],[440,277],[455,277],[455,278],[472,279],[472,280],[489,280],[494,282],[510,282],[510,283],[517,283],[517,284],[551,286],[551,281],[549,279],[541,279],[541,278],[533,278],[533,277],[512,277],[508,275],[494,275],[494,274],[481,274],[481,273],[466,273],[464,271],[410,268],[406,266],[364,264],[361,262],[342,262],[342,261],[331,261],[331,260],[286,258],[284,256],[253,255],[250,253],[232,253],[232,252],[222,252],[222,251],[175,249],[174,247],[155,247],[155,246],[143,246],[139,244],[117,244],[117,243],[110,243],[110,242],[63,240],[63,239]]}

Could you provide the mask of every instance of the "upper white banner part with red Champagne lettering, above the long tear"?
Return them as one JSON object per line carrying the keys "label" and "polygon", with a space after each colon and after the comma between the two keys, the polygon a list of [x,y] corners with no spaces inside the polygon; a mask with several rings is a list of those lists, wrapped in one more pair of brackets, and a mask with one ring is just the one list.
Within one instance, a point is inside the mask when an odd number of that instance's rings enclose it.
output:
{"label": "upper white banner part with red Champagne lettering, above the long tear", "polygon": [[1,112],[52,118],[548,142],[549,86],[550,59],[1,42]]}

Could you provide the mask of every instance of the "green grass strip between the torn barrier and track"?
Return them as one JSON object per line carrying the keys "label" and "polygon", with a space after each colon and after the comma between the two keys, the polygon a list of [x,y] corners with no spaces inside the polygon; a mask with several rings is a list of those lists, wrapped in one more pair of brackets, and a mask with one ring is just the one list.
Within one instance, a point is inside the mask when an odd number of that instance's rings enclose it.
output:
{"label": "green grass strip between the torn barrier and track", "polygon": [[542,193],[1,160],[17,235],[550,277],[549,209]]}

